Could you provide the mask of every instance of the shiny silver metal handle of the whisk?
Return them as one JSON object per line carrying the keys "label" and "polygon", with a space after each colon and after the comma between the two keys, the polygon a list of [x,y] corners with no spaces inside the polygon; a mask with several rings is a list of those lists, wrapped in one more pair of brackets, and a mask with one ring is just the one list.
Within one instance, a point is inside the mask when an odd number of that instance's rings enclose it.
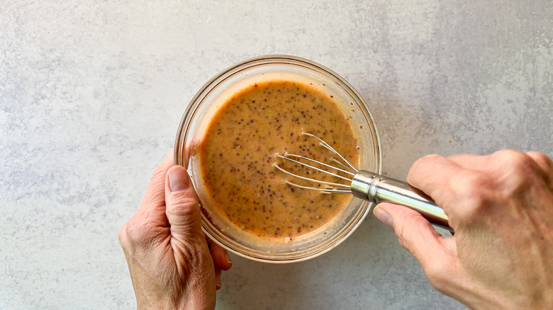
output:
{"label": "shiny silver metal handle of the whisk", "polygon": [[351,187],[355,197],[374,203],[385,201],[410,207],[422,214],[430,223],[453,231],[449,227],[444,210],[424,197],[423,193],[416,193],[418,190],[406,182],[362,170],[353,177]]}

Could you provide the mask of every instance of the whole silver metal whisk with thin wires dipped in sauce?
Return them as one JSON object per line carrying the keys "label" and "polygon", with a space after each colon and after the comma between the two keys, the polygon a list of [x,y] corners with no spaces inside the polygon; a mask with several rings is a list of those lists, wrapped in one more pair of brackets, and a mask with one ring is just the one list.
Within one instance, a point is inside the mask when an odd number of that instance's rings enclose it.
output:
{"label": "whole silver metal whisk with thin wires dipped in sauce", "polygon": [[[333,161],[333,163],[335,163],[335,165],[339,167],[332,166],[328,163],[321,163],[320,161],[315,161],[305,156],[296,154],[286,153],[284,155],[278,154],[277,156],[286,161],[298,163],[301,166],[306,166],[315,171],[328,173],[331,176],[335,176],[336,178],[346,180],[349,184],[327,182],[322,180],[315,180],[306,176],[299,176],[295,173],[286,171],[286,169],[277,165],[277,163],[274,163],[274,166],[276,168],[288,174],[289,176],[294,176],[295,178],[300,178],[302,180],[308,180],[313,183],[323,184],[325,185],[325,187],[315,188],[311,186],[299,185],[286,180],[286,183],[288,183],[289,185],[306,190],[318,190],[320,191],[320,193],[325,194],[352,194],[355,197],[359,197],[363,200],[374,203],[393,202],[398,205],[404,205],[422,214],[423,217],[428,219],[430,223],[440,226],[449,231],[453,231],[449,227],[449,224],[447,222],[447,215],[445,215],[444,210],[438,207],[432,200],[424,197],[424,194],[421,195],[417,193],[418,190],[410,187],[408,183],[393,178],[387,178],[385,176],[379,175],[378,173],[372,173],[366,170],[359,170],[352,163],[347,161],[344,156],[340,155],[340,153],[333,149],[333,147],[330,147],[328,143],[324,142],[323,139],[320,139],[319,137],[306,132],[302,132],[302,134],[317,139],[320,142],[320,146],[325,147],[325,149],[332,151],[336,156],[338,156],[340,161],[337,159],[331,159],[331,161]],[[334,171],[336,171],[336,173],[327,171],[323,168],[312,166],[308,163],[299,161],[298,159],[301,159],[303,161],[310,161],[325,168],[333,169]],[[337,174],[338,172],[343,173],[345,176]]]}

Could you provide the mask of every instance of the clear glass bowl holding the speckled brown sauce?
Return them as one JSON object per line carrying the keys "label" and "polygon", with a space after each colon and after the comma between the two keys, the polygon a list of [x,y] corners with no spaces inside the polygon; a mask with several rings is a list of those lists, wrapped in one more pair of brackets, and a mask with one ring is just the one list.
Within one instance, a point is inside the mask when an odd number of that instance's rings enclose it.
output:
{"label": "clear glass bowl holding the speckled brown sauce", "polygon": [[230,97],[255,83],[273,80],[296,81],[333,96],[350,118],[359,146],[359,167],[381,173],[381,143],[367,103],[355,89],[335,72],[308,59],[287,55],[267,55],[233,65],[209,80],[192,98],[184,111],[174,147],[175,164],[189,172],[200,199],[203,232],[223,248],[245,258],[268,263],[290,263],[314,258],[335,248],[353,233],[373,205],[352,197],[337,216],[292,242],[252,236],[231,224],[213,210],[203,189],[199,152],[213,115]]}

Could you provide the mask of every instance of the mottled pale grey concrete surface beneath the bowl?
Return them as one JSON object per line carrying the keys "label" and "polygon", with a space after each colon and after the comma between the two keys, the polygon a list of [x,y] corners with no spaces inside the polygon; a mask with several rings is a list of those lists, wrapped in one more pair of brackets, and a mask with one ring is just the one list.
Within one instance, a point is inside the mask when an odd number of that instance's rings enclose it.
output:
{"label": "mottled pale grey concrete surface beneath the bowl", "polygon": [[[553,156],[552,29],[550,0],[0,0],[0,309],[135,306],[117,231],[191,96],[230,64],[337,71],[405,178],[430,153]],[[464,308],[372,216],[320,258],[233,259],[218,309]]]}

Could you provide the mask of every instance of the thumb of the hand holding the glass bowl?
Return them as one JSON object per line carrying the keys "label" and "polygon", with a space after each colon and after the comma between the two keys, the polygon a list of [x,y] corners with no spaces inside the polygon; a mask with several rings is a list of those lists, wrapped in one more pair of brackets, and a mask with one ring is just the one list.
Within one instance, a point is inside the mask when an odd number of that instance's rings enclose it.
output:
{"label": "thumb of the hand holding the glass bowl", "polygon": [[183,166],[172,166],[167,171],[165,204],[172,236],[203,239],[198,196]]}

